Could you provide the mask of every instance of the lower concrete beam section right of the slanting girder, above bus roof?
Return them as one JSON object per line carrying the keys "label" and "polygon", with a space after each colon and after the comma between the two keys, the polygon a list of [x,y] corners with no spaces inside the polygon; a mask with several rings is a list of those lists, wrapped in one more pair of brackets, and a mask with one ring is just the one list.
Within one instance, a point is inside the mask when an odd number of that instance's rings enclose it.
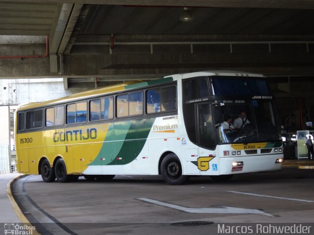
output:
{"label": "lower concrete beam section right of the slanting girder, above bus roof", "polygon": [[[277,60],[276,60],[277,59]],[[313,74],[312,54],[159,54],[65,56],[65,74],[173,74],[202,70],[240,70],[266,74]],[[307,61],[307,62],[306,62]]]}

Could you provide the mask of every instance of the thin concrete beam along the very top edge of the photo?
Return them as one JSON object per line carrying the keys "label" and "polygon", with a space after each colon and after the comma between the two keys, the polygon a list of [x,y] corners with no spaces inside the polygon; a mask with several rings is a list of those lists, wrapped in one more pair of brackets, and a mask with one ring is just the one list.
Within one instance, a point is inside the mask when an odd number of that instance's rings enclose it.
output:
{"label": "thin concrete beam along the very top edge of the photo", "polygon": [[[7,1],[7,0],[0,0]],[[11,0],[21,2],[21,0]],[[64,0],[24,0],[24,2],[59,2]],[[67,0],[68,3],[143,5],[143,6],[199,6],[199,7],[237,7],[237,8],[283,8],[314,9],[313,0]]]}

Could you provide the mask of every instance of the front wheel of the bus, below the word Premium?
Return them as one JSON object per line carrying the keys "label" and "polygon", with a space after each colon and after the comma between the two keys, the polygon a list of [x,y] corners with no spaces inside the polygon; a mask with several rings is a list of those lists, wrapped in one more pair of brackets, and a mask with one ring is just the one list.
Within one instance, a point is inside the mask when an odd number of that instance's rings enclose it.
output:
{"label": "front wheel of the bus, below the word Premium", "polygon": [[161,162],[160,172],[164,181],[169,185],[183,185],[190,176],[182,174],[179,158],[174,153],[168,154]]}

